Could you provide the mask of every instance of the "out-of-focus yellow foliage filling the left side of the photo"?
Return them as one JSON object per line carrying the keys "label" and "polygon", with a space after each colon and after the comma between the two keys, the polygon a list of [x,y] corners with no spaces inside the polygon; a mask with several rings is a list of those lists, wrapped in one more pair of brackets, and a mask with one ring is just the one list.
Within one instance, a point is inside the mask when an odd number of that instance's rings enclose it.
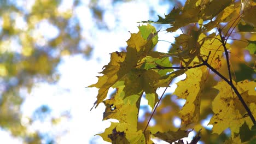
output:
{"label": "out-of-focus yellow foliage filling the left side of the photo", "polygon": [[[20,106],[26,95],[21,91],[30,93],[37,82],[55,83],[62,56],[83,53],[90,58],[92,51],[74,13],[80,1],[73,1],[67,9],[61,4],[61,0],[0,1],[0,127],[25,143],[41,143],[45,135],[28,133],[22,124]],[[95,20],[102,21],[103,10],[97,1],[91,1],[89,7]],[[44,121],[50,112],[47,105],[38,106],[29,123]],[[54,124],[56,118],[51,120]],[[49,137],[46,143],[53,141]]]}

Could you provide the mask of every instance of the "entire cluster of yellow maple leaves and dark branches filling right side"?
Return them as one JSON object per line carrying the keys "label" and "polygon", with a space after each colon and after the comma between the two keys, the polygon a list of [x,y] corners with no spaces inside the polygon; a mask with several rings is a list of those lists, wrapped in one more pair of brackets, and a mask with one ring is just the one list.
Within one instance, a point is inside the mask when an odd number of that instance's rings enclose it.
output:
{"label": "entire cluster of yellow maple leaves and dark branches filling right side", "polygon": [[[89,86],[99,88],[94,105],[106,105],[103,120],[119,121],[98,135],[112,143],[154,143],[155,137],[183,143],[194,130],[191,143],[255,143],[255,13],[255,1],[188,0],[157,21],[142,21],[147,24],[131,33],[124,51],[111,53],[102,76]],[[158,52],[161,30],[149,23],[168,24],[167,32],[182,34],[169,51]],[[174,93],[158,95],[183,74]],[[106,99],[110,87],[117,91]],[[142,97],[152,111],[138,121]],[[185,104],[179,107],[175,99]],[[209,116],[212,129],[201,124]],[[178,128],[175,117],[181,118]]]}

